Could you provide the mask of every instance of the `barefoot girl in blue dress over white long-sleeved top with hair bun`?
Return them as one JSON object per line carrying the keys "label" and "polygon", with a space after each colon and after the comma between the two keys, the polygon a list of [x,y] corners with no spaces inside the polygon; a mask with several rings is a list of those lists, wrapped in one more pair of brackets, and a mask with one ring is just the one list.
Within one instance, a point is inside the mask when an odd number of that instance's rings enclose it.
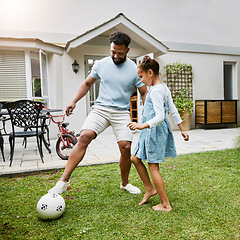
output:
{"label": "barefoot girl in blue dress over white long-sleeved top with hair bun", "polygon": [[[151,87],[143,108],[142,124],[135,122],[128,124],[131,130],[142,130],[131,157],[146,189],[139,205],[144,204],[151,196],[158,194],[161,203],[152,208],[154,210],[171,211],[172,207],[159,172],[159,163],[164,162],[165,157],[177,156],[173,134],[166,118],[167,108],[175,123],[179,126],[184,140],[188,141],[189,136],[184,131],[181,123],[182,119],[173,103],[170,90],[159,78],[158,62],[145,56],[138,66],[138,76],[142,82]],[[142,162],[145,159],[147,159],[155,188]]]}

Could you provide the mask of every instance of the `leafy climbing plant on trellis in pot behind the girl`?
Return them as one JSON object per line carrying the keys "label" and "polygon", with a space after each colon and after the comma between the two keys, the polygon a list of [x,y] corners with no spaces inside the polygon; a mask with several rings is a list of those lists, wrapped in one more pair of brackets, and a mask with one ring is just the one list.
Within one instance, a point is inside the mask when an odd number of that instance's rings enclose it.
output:
{"label": "leafy climbing plant on trellis in pot behind the girl", "polygon": [[167,85],[172,93],[173,102],[183,119],[185,130],[191,129],[192,100],[192,66],[185,63],[166,65]]}

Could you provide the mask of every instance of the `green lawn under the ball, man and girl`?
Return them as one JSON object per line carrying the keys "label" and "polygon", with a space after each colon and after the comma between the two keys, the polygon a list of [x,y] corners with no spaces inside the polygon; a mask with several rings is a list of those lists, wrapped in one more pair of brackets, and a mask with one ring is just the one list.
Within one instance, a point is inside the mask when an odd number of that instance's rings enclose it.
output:
{"label": "green lawn under the ball, man and girl", "polygon": [[[118,164],[77,168],[61,218],[43,221],[36,205],[62,171],[0,178],[1,239],[240,239],[240,151],[187,154],[160,165],[172,212],[158,196],[119,190]],[[134,167],[130,181],[144,192]]]}

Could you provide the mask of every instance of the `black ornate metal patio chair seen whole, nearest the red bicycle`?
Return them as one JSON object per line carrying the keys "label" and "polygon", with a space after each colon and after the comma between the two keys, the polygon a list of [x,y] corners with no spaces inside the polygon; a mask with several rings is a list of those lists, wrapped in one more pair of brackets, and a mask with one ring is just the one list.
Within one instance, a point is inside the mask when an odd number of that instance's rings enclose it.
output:
{"label": "black ornate metal patio chair seen whole, nearest the red bicycle", "polygon": [[[13,160],[15,138],[23,138],[26,141],[28,137],[36,137],[38,151],[44,163],[42,151],[43,132],[39,125],[39,114],[42,107],[41,102],[32,100],[19,100],[6,103],[12,125],[12,132],[9,135],[10,166]],[[20,129],[23,130],[19,131]]]}

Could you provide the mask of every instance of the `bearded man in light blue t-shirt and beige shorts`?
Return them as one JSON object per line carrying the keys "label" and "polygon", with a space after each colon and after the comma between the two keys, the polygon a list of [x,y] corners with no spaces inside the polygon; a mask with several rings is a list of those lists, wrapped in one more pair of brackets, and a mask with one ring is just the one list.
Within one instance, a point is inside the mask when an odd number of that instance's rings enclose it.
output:
{"label": "bearded man in light blue t-shirt and beige shorts", "polygon": [[89,143],[108,126],[112,126],[117,139],[120,157],[121,184],[120,189],[138,194],[141,190],[128,182],[131,168],[130,149],[132,132],[127,127],[131,121],[129,114],[130,96],[137,87],[144,102],[147,88],[137,75],[136,64],[127,58],[131,39],[121,32],[114,32],[109,37],[111,56],[105,57],[94,64],[91,73],[81,84],[72,103],[67,106],[69,115],[91,86],[100,79],[99,96],[92,111],[87,116],[79,137],[73,148],[60,181],[49,192],[63,193],[71,188],[69,178],[73,170],[83,159]]}

